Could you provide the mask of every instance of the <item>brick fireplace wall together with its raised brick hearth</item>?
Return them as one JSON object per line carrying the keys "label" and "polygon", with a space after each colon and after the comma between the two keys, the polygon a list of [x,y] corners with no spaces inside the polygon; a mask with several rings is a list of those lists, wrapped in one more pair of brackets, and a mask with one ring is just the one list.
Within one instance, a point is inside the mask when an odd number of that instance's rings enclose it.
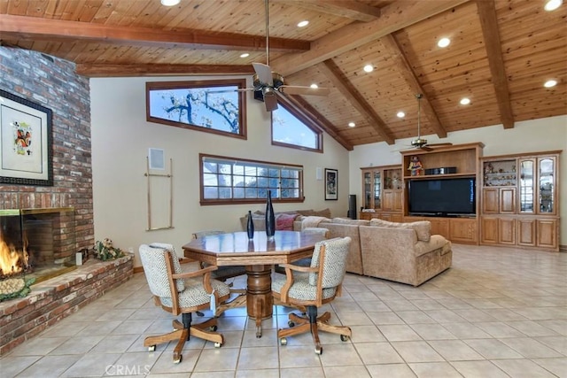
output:
{"label": "brick fireplace wall together with its raised brick hearth", "polygon": [[[52,112],[53,169],[52,186],[0,177],[0,210],[74,208],[74,232],[64,234],[73,237],[73,253],[92,248],[95,241],[89,79],[74,68],[33,50],[0,46],[0,88]],[[0,354],[128,280],[132,264],[129,255],[107,263],[89,260],[73,272],[33,285],[25,298],[0,303]]]}

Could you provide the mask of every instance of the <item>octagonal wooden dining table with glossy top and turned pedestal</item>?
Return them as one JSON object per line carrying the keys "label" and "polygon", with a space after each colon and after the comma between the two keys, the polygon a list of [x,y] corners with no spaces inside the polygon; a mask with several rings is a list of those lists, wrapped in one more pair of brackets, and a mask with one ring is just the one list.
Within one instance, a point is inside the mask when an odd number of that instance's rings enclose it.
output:
{"label": "octagonal wooden dining table with glossy top and turned pedestal", "polygon": [[261,337],[261,321],[272,317],[272,266],[290,264],[311,257],[315,243],[323,235],[299,231],[276,230],[268,236],[265,231],[207,235],[183,245],[183,254],[214,266],[245,266],[245,304],[248,316],[256,322],[256,337]]}

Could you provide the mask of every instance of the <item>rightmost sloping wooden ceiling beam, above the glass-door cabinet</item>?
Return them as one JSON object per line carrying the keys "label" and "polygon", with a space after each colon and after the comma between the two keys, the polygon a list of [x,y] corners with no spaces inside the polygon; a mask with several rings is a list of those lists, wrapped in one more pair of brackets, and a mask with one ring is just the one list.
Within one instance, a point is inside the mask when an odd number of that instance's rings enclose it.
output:
{"label": "rightmost sloping wooden ceiling beam, above the glass-door cabinet", "polygon": [[502,58],[500,31],[498,30],[498,19],[496,19],[494,2],[486,0],[477,1],[477,8],[485,40],[488,66],[490,66],[494,90],[496,91],[496,102],[500,110],[500,120],[504,128],[512,128],[514,127],[514,112],[512,112],[508,76],[504,67],[504,58]]}

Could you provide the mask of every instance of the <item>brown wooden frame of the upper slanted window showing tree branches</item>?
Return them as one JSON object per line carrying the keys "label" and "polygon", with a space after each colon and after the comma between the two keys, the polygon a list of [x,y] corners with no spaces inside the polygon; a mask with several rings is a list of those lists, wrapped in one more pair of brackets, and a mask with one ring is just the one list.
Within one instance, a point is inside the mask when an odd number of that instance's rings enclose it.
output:
{"label": "brown wooden frame of the upper slanted window showing tree branches", "polygon": [[214,89],[217,87],[237,86],[238,89],[246,88],[245,79],[222,79],[222,80],[199,80],[199,81],[146,81],[145,83],[145,109],[146,120],[148,122],[159,123],[162,125],[182,127],[190,130],[201,131],[210,134],[230,136],[233,138],[247,139],[246,130],[246,95],[244,91],[238,92],[238,133],[230,133],[229,131],[217,130],[214,128],[191,125],[175,120],[164,120],[152,117],[150,114],[150,92],[151,90],[168,90],[168,89]]}

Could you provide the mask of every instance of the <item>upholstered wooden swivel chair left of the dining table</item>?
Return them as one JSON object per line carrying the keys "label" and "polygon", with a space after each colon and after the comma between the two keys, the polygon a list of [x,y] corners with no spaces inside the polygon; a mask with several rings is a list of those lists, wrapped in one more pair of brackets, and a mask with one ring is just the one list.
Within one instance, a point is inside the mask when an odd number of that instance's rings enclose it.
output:
{"label": "upholstered wooden swivel chair left of the dining table", "polygon": [[214,343],[219,348],[224,343],[223,336],[216,331],[216,319],[212,318],[198,324],[191,324],[191,312],[212,308],[229,298],[227,284],[211,279],[211,272],[216,266],[183,272],[173,245],[152,243],[140,245],[140,259],[144,274],[155,305],[177,316],[182,315],[182,322],[173,320],[174,330],[165,335],[147,336],[144,346],[155,351],[156,344],[177,340],[174,349],[174,363],[183,359],[183,345],[190,336],[202,338]]}

